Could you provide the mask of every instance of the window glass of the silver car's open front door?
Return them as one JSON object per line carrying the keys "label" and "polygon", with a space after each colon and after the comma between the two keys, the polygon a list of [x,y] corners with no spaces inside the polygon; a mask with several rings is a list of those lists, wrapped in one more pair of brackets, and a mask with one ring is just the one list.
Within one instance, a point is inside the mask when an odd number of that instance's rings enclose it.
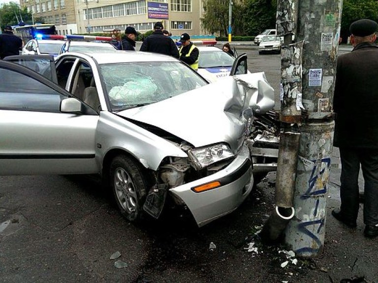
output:
{"label": "window glass of the silver car's open front door", "polygon": [[25,74],[0,68],[0,109],[59,112],[65,96]]}

